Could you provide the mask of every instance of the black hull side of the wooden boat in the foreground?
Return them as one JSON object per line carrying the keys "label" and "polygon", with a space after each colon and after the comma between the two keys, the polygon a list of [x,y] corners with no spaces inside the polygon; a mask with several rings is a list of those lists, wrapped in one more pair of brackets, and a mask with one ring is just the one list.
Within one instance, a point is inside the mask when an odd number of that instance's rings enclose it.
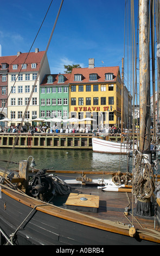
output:
{"label": "black hull side of the wooden boat in the foreground", "polygon": [[[40,202],[41,204],[41,202]],[[32,208],[2,192],[1,229],[10,236]],[[61,211],[61,209],[60,209]],[[33,210],[13,237],[14,245],[153,245],[151,241],[89,227]]]}

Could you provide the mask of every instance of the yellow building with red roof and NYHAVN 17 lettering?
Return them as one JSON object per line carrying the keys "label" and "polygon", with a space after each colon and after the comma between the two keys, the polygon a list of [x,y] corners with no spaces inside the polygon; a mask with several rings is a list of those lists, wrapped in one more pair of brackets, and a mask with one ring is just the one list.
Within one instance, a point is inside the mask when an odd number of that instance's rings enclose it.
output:
{"label": "yellow building with red roof and NYHAVN 17 lettering", "polygon": [[72,70],[69,86],[69,117],[93,118],[93,129],[120,125],[121,78],[119,66]]}

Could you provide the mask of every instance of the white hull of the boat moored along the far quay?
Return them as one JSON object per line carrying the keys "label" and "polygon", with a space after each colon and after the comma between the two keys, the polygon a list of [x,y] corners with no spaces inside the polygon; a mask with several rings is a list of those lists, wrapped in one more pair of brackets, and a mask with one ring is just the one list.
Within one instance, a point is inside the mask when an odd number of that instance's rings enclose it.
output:
{"label": "white hull of the boat moored along the far quay", "polygon": [[[132,147],[127,143],[105,141],[97,137],[92,137],[92,148],[94,152],[107,154],[128,154],[129,150],[132,152]],[[135,149],[137,146],[135,145]]]}

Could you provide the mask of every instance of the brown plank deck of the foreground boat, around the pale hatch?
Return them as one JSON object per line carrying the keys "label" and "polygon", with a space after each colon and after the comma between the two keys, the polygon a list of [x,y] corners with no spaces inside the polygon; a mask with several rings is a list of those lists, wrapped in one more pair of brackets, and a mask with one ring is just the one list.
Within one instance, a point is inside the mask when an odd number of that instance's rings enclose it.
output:
{"label": "brown plank deck of the foreground boat, around the pale hatch", "polygon": [[[72,187],[72,193],[89,194],[89,195],[92,194],[92,196],[99,196],[98,212],[78,210],[82,214],[96,217],[101,220],[124,223],[125,225],[132,225],[133,223],[134,227],[140,230],[142,230],[142,227],[148,228],[148,229],[154,229],[153,217],[140,217],[138,215],[135,215],[136,204],[135,204],[135,198],[132,199],[132,193],[104,192],[104,191],[98,190],[97,187],[92,187],[92,188],[91,187]],[[68,196],[56,197],[54,198],[53,203],[57,206],[61,206],[62,208],[66,209],[67,207],[65,203],[66,203],[67,197]],[[133,204],[132,204],[132,200],[133,200]],[[127,206],[129,206],[129,215],[126,217],[124,214],[124,211]],[[157,222],[156,222],[156,230],[160,231],[160,228]]]}

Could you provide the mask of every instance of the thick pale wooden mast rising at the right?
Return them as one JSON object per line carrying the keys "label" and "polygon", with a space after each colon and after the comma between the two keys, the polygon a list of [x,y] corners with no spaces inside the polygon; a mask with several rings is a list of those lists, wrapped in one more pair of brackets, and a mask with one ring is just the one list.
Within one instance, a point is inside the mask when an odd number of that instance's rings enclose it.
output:
{"label": "thick pale wooden mast rising at the right", "polygon": [[139,96],[141,153],[150,154],[149,0],[139,0]]}

